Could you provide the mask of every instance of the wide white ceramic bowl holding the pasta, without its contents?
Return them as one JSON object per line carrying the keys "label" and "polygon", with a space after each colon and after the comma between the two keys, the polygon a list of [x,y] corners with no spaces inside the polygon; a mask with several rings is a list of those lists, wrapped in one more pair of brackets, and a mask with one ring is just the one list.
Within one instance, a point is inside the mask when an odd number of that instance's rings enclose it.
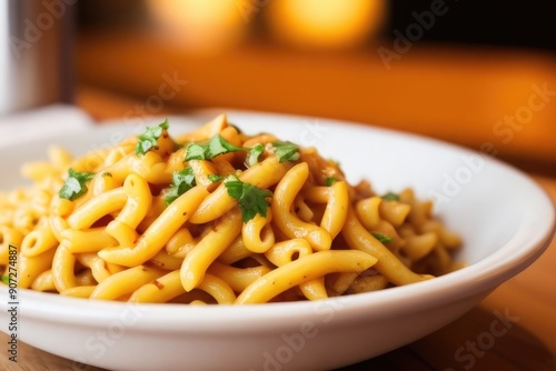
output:
{"label": "wide white ceramic bowl holding the pasta, without its contents", "polygon": [[[548,197],[530,179],[485,154],[366,126],[232,112],[244,131],[269,131],[316,146],[353,182],[377,191],[413,187],[437,201],[465,239],[469,265],[411,285],[319,302],[244,307],[127,304],[19,290],[19,339],[48,352],[111,370],[322,370],[355,363],[424,337],[457,319],[529,265],[554,229]],[[192,119],[170,119],[170,132]],[[153,121],[149,122],[153,123]],[[117,141],[135,124],[57,137],[75,153]],[[111,139],[112,138],[112,139]],[[0,189],[21,183],[24,160],[44,158],[52,140],[0,148]],[[0,298],[8,298],[6,288]],[[7,299],[0,318],[7,323]],[[6,325],[1,328],[7,331]]]}

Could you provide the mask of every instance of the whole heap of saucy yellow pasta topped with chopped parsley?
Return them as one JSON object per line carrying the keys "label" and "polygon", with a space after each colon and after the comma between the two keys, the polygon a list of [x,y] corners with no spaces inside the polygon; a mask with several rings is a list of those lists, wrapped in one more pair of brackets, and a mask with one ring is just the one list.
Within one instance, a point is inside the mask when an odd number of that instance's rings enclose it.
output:
{"label": "whole heap of saucy yellow pasta topped with chopped parsley", "polygon": [[[379,195],[338,163],[219,116],[167,121],[116,147],[26,163],[0,193],[0,269],[18,285],[152,303],[321,300],[410,284],[460,265],[459,235],[410,189]],[[12,248],[10,248],[12,245]]]}

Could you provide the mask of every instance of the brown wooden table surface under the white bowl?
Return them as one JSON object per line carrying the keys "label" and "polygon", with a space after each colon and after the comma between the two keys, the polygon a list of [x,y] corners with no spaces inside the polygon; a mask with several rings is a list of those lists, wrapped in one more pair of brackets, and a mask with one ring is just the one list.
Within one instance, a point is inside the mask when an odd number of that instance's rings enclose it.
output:
{"label": "brown wooden table surface under the white bowl", "polygon": [[[117,101],[109,100],[113,104]],[[81,107],[96,107],[81,101]],[[109,104],[105,106],[110,110]],[[98,108],[97,108],[98,109]],[[530,174],[556,203],[556,178]],[[346,370],[556,370],[556,240],[528,269],[502,284],[478,307],[451,324],[411,344]],[[496,313],[515,322],[492,348],[473,348],[489,333]],[[0,343],[8,335],[0,333]],[[6,347],[3,347],[6,348]],[[19,344],[18,363],[0,352],[1,370],[73,370],[73,362]],[[89,367],[89,371],[100,369]]]}

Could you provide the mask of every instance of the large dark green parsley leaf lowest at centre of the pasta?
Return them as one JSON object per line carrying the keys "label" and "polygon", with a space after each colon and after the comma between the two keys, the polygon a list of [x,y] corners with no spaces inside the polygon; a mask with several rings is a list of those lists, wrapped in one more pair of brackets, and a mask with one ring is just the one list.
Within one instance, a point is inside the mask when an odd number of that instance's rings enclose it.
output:
{"label": "large dark green parsley leaf lowest at centre of the pasta", "polygon": [[228,194],[238,201],[244,222],[248,222],[257,213],[267,215],[269,203],[267,198],[272,195],[267,189],[260,189],[254,184],[245,183],[236,176],[228,176],[224,182]]}

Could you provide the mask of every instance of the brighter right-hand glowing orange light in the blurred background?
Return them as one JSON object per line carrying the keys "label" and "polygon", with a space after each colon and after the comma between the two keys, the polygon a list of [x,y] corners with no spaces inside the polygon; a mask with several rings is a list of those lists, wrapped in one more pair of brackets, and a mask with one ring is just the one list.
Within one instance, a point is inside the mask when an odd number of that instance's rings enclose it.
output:
{"label": "brighter right-hand glowing orange light in the blurred background", "polygon": [[383,23],[385,0],[275,0],[266,11],[271,32],[298,47],[345,48]]}

